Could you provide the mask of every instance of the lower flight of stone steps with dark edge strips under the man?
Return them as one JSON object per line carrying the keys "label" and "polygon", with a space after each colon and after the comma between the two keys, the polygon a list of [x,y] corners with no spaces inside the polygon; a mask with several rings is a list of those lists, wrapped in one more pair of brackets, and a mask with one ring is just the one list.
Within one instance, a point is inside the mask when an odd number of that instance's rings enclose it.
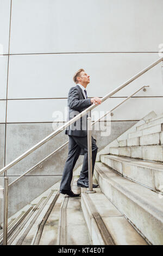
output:
{"label": "lower flight of stone steps with dark edge strips under the man", "polygon": [[[81,190],[77,179],[75,193]],[[101,188],[95,194],[82,188],[81,197],[70,198],[57,187],[59,183],[9,218],[8,245],[147,245]],[[2,244],[3,230],[0,239]]]}

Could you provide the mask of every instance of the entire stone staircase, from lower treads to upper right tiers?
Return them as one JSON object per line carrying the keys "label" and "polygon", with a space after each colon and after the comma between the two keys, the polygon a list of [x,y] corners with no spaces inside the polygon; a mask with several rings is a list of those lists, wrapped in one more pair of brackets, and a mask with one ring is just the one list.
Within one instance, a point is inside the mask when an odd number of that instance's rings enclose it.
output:
{"label": "entire stone staircase, from lower treads to upper right tiers", "polygon": [[60,194],[58,182],[10,217],[8,245],[163,245],[162,119],[149,113],[99,152],[96,193],[74,176],[81,197]]}

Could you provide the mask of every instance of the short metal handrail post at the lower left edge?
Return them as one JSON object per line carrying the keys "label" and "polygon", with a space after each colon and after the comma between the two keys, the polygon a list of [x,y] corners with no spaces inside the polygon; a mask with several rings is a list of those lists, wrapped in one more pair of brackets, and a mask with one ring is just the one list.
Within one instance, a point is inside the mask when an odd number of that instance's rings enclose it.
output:
{"label": "short metal handrail post at the lower left edge", "polygon": [[8,244],[8,177],[4,177],[3,245]]}

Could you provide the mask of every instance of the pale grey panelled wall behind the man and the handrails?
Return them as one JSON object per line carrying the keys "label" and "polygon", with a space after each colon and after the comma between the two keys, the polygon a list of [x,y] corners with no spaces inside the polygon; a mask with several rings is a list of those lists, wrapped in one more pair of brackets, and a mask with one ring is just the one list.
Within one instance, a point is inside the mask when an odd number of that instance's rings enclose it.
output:
{"label": "pale grey panelled wall behind the man and the handrails", "polygon": [[[76,70],[84,68],[90,75],[88,96],[103,97],[158,59],[162,9],[162,0],[0,0],[0,168],[66,121]],[[98,106],[93,119],[145,84],[147,92],[114,111],[110,135],[93,133],[99,150],[150,111],[163,112],[159,64]],[[9,181],[67,139],[60,133],[12,167]],[[9,215],[61,178],[66,154],[62,149],[10,188]],[[82,156],[76,167],[80,163]]]}

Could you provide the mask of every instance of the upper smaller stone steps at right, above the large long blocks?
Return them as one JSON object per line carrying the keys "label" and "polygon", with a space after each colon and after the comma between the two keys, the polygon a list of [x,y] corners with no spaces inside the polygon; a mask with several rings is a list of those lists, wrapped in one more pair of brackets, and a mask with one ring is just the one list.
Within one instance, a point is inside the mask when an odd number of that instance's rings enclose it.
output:
{"label": "upper smaller stone steps at right, above the large long blocks", "polygon": [[136,126],[136,131],[118,141],[118,147],[111,147],[110,154],[136,159],[163,161],[163,114]]}

